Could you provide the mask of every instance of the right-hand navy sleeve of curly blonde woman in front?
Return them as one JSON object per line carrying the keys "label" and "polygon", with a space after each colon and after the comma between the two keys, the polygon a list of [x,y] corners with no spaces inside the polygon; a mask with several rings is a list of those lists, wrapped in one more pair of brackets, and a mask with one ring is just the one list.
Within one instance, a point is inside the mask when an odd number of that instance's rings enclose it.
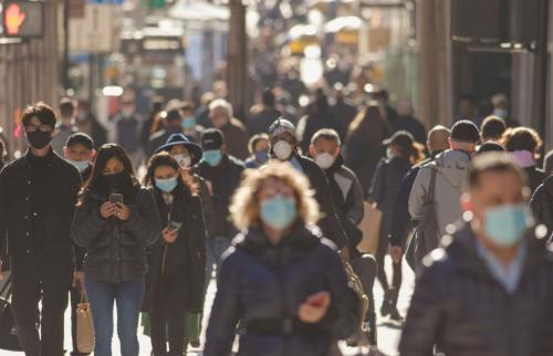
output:
{"label": "right-hand navy sleeve of curly blonde woman in front", "polygon": [[345,339],[351,337],[361,324],[361,302],[347,284],[338,254],[328,249],[324,263],[325,279],[331,292],[331,306],[320,325],[334,337]]}

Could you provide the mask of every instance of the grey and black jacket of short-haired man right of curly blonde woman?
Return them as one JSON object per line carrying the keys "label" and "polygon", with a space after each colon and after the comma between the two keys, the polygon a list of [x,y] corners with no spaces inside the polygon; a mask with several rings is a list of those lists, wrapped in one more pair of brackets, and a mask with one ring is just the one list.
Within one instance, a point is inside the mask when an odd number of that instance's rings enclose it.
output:
{"label": "grey and black jacket of short-haired man right of curly blonde woman", "polygon": [[349,252],[355,253],[363,238],[363,232],[357,228],[365,214],[363,189],[355,174],[344,166],[342,156],[324,174],[331,186],[337,216],[349,240]]}

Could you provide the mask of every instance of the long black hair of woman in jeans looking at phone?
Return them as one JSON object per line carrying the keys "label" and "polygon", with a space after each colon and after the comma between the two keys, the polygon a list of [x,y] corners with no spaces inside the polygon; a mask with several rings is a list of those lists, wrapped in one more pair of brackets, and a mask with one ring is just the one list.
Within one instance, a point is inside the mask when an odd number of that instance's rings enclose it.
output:
{"label": "long black hair of woman in jeans looking at phone", "polygon": [[81,191],[80,203],[82,203],[91,193],[96,193],[102,197],[106,197],[109,193],[109,188],[104,181],[104,168],[107,161],[112,158],[115,158],[123,164],[123,171],[126,176],[124,186],[119,192],[125,197],[131,197],[138,191],[140,182],[135,176],[133,164],[125,153],[125,149],[116,144],[106,144],[98,149],[94,159],[91,177],[86,180]]}

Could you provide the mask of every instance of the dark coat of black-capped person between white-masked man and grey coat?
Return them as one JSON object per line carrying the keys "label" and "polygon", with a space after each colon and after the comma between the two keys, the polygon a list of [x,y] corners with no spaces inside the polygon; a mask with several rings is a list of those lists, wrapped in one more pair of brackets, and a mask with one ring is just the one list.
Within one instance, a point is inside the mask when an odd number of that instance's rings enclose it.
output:
{"label": "dark coat of black-capped person between white-masked man and grey coat", "polygon": [[382,160],[376,167],[368,198],[376,202],[383,211],[384,227],[388,230],[394,209],[394,200],[401,186],[401,181],[411,168],[411,163],[405,158]]}

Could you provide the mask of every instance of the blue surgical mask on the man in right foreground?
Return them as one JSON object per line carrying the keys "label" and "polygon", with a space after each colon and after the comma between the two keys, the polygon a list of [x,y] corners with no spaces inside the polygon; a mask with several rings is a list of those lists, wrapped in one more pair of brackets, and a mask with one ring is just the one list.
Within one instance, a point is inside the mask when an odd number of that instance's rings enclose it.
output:
{"label": "blue surgical mask on the man in right foreground", "polygon": [[507,205],[486,211],[484,231],[491,241],[501,247],[512,247],[533,224],[524,205]]}

